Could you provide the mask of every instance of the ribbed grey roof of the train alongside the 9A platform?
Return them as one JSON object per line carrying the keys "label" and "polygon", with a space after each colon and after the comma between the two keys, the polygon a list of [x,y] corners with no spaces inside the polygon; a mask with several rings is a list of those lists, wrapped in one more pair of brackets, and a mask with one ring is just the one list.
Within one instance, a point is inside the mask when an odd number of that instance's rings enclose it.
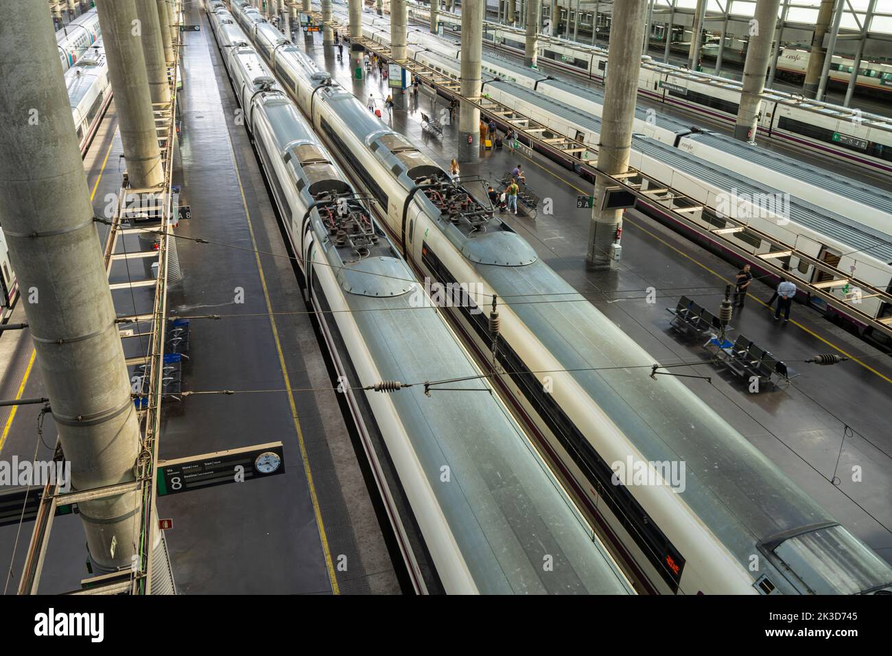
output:
{"label": "ribbed grey roof of the train alongside the 9A platform", "polygon": [[[601,121],[589,112],[582,112],[514,82],[492,82],[491,84],[515,95],[525,103],[534,104],[558,116],[572,117],[572,120],[583,128],[600,133]],[[681,151],[679,148],[660,143],[656,139],[634,137],[632,148],[720,189],[730,191],[736,188],[740,192],[754,196],[760,194],[782,196],[780,191],[773,187],[745,178],[736,171],[706,162],[695,155]],[[826,185],[823,186],[826,187]],[[855,251],[864,251],[870,257],[892,263],[892,240],[879,230],[847,219],[836,212],[830,212],[797,196],[790,196],[789,209],[789,219],[799,225],[835,239],[841,244],[847,244]]]}

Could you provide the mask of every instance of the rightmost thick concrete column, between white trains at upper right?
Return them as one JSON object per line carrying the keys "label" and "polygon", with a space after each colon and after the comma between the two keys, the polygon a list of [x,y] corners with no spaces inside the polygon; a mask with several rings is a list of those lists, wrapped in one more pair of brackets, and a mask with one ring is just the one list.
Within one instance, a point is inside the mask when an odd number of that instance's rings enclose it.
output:
{"label": "rightmost thick concrete column, between white trains at upper right", "polygon": [[774,27],[778,20],[780,0],[758,0],[756,3],[756,27],[758,31],[749,38],[747,62],[743,66],[743,89],[734,126],[734,138],[741,141],[756,140],[756,122],[762,91],[765,88],[765,72],[772,54]]}

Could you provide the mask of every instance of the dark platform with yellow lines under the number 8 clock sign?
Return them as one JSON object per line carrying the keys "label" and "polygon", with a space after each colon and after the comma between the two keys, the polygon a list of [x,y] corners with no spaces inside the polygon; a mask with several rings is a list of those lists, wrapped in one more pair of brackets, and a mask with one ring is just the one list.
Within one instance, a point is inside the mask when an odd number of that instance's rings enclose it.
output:
{"label": "dark platform with yellow lines under the number 8 clock sign", "polygon": [[[180,92],[180,203],[192,218],[176,234],[183,281],[169,288],[169,316],[191,319],[183,389],[208,394],[166,400],[161,461],[281,440],[285,474],[244,484],[159,496],[178,594],[396,594],[388,537],[378,520],[326,359],[294,275],[259,164],[204,13],[194,4],[184,32]],[[85,160],[95,212],[115,195],[123,168],[114,104]],[[101,230],[101,237],[103,231]],[[128,237],[136,242],[136,236]],[[142,263],[130,264],[143,278]],[[117,294],[117,293],[116,293]],[[119,303],[121,314],[132,311]],[[136,303],[136,302],[135,302]],[[21,300],[12,321],[21,314]],[[219,320],[199,319],[207,314]],[[29,366],[26,331],[0,337],[3,398],[45,394]],[[130,353],[127,353],[128,355]],[[220,394],[235,390],[236,394]],[[305,391],[310,390],[310,391]],[[0,458],[50,456],[52,417],[37,439],[40,405],[0,411]],[[0,568],[12,561],[15,591],[32,523],[0,527]],[[389,530],[389,527],[388,527]],[[39,592],[76,590],[87,577],[76,516],[56,519]],[[13,551],[15,553],[13,558]],[[5,582],[5,581],[4,581]]]}

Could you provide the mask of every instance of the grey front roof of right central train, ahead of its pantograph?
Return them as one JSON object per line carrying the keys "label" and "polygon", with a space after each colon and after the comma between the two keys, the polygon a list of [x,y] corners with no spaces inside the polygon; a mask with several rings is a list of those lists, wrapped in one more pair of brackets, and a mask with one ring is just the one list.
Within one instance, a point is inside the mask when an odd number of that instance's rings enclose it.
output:
{"label": "grey front roof of right central train, ahead of its pantograph", "polygon": [[657,360],[588,299],[577,294],[574,303],[574,288],[543,262],[476,268],[645,461],[685,463],[676,493],[744,567],[753,539],[789,534],[799,541],[800,532],[827,524],[831,535],[823,537],[832,545],[815,550],[824,569],[813,589],[828,577],[835,579],[830,590],[846,593],[892,580],[888,564],[710,408],[709,394],[720,393],[704,383],[705,400],[676,378],[650,378]]}

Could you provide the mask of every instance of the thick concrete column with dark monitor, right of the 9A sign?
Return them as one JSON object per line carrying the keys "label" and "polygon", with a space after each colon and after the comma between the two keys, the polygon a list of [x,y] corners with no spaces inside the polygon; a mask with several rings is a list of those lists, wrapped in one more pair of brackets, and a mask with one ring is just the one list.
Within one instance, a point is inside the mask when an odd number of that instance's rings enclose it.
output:
{"label": "thick concrete column with dark monitor, right of the 9A sign", "polygon": [[[598,146],[598,168],[608,175],[624,173],[629,168],[638,75],[641,68],[641,39],[648,0],[624,0],[615,3],[607,54],[607,85]],[[601,210],[607,194],[607,180],[595,181],[594,204],[589,228],[587,264],[605,268],[613,262],[611,246],[616,230],[623,224],[622,210]]]}

